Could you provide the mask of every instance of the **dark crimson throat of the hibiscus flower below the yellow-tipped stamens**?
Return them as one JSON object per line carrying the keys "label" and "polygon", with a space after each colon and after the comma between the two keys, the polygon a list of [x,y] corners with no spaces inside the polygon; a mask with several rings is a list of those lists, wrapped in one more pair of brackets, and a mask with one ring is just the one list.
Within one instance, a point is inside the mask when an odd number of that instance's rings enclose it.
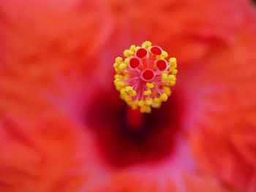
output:
{"label": "dark crimson throat of the hibiscus flower below the yellow-tipped stamens", "polygon": [[181,131],[183,103],[177,94],[159,110],[145,114],[121,102],[114,90],[93,93],[86,108],[86,128],[102,163],[122,169],[158,164],[170,157]]}

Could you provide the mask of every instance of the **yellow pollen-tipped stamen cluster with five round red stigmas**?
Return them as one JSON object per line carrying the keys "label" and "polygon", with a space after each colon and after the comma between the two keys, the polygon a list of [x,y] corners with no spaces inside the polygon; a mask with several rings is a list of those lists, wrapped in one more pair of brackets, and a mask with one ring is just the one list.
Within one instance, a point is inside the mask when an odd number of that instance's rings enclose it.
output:
{"label": "yellow pollen-tipped stamen cluster with five round red stigmas", "polygon": [[178,72],[176,58],[166,60],[168,54],[151,42],[140,46],[132,45],[124,50],[124,61],[116,58],[113,64],[116,70],[114,84],[120,91],[120,97],[140,112],[151,112],[151,107],[161,107],[167,101],[171,86],[176,84]]}

